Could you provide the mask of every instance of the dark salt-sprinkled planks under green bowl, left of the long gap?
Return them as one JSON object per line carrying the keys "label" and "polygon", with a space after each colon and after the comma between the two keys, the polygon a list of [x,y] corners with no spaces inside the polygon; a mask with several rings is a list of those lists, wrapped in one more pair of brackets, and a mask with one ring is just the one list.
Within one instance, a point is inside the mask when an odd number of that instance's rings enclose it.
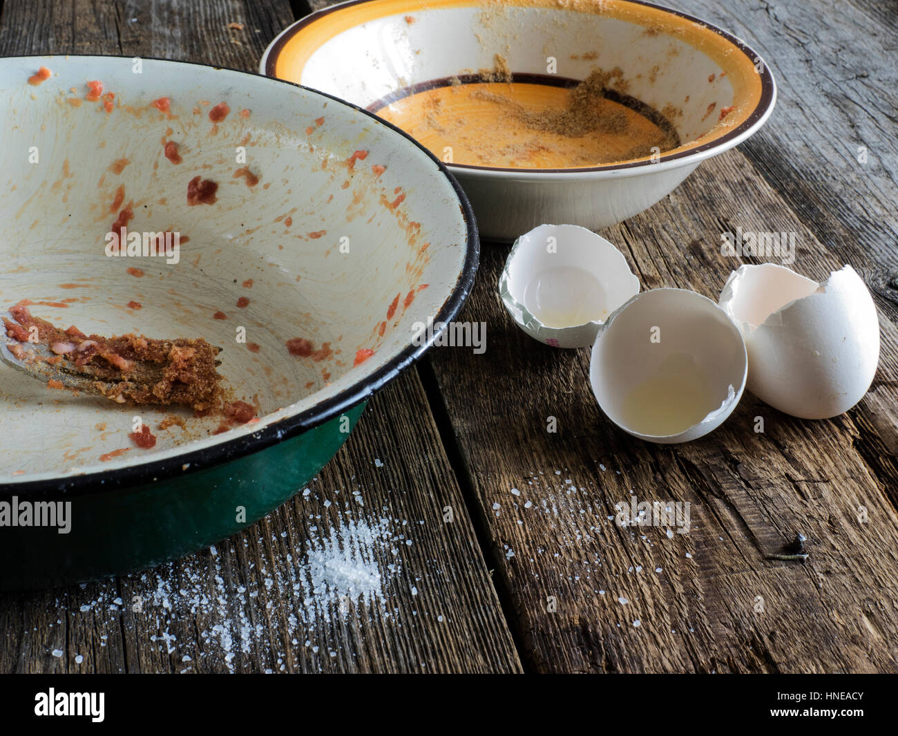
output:
{"label": "dark salt-sprinkled planks under green bowl, left of the long gap", "polygon": [[[252,69],[292,20],[286,1],[6,0],[0,54],[111,53]],[[334,551],[331,535],[357,546],[350,562],[380,576],[383,596],[314,595],[310,564],[316,550]],[[307,492],[214,554],[6,594],[0,632],[4,672],[521,669],[414,370],[374,397]]]}

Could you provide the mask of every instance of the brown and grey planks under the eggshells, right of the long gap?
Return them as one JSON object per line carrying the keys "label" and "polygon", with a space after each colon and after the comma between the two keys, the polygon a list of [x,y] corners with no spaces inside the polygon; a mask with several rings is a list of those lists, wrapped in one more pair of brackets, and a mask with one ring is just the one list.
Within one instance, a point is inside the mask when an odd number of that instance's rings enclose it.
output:
{"label": "brown and grey planks under the eggshells, right of the long gap", "polygon": [[[778,109],[750,142],[603,235],[643,288],[716,300],[742,262],[721,255],[721,233],[795,231],[794,268],[823,279],[849,262],[874,292],[883,338],[874,385],[831,421],[796,420],[745,395],[707,438],[638,442],[596,405],[588,350],[552,350],[515,327],[496,294],[507,247],[487,244],[462,320],[488,325],[488,350],[431,354],[444,438],[457,442],[526,667],[894,672],[898,70],[894,34],[876,33],[876,22],[894,26],[894,8],[877,5],[875,22],[872,3],[678,5],[762,52]],[[690,532],[617,526],[615,504],[631,494],[689,501]],[[810,539],[806,564],[766,558],[797,532]]]}

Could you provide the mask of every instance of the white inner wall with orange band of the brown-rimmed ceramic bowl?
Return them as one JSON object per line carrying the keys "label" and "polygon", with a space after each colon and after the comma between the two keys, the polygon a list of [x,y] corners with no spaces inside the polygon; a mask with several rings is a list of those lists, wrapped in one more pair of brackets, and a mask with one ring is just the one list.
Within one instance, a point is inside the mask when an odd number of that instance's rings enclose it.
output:
{"label": "white inner wall with orange band of the brown-rimmed ceramic bowl", "polygon": [[397,90],[491,69],[497,54],[515,74],[580,80],[620,68],[612,88],[664,115],[684,146],[732,129],[760,91],[753,62],[731,41],[619,0],[345,4],[285,31],[262,69],[373,109]]}

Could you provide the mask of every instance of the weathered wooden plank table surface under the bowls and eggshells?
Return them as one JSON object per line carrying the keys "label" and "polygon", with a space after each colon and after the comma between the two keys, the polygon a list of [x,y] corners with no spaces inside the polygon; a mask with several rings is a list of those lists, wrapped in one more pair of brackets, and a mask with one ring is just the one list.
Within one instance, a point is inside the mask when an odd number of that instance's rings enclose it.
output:
{"label": "weathered wooden plank table surface under the bowls and eggshells", "polygon": [[[777,109],[603,235],[643,288],[714,299],[739,263],[719,249],[736,226],[797,232],[793,268],[814,279],[850,263],[883,339],[858,406],[800,421],[746,394],[706,438],[629,439],[594,401],[588,350],[541,347],[508,318],[496,293],[507,246],[485,243],[461,317],[488,325],[484,354],[432,350],[374,397],[307,489],[213,550],[0,597],[0,671],[898,671],[898,6],[670,2],[761,52]],[[0,55],[254,69],[308,12],[302,0],[4,0]],[[631,492],[690,501],[690,533],[616,526]],[[768,559],[797,532],[806,563]],[[307,540],[328,539],[365,543],[383,596],[309,598],[295,564]]]}

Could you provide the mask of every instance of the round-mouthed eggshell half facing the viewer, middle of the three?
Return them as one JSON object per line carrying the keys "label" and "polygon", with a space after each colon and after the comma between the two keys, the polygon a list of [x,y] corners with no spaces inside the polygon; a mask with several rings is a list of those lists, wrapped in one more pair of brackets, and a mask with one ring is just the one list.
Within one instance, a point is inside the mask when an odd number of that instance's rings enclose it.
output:
{"label": "round-mouthed eggshell half facing the viewer, middle of the three", "polygon": [[707,297],[657,288],[631,298],[599,330],[589,379],[605,415],[649,442],[715,430],[745,387],[739,328]]}

